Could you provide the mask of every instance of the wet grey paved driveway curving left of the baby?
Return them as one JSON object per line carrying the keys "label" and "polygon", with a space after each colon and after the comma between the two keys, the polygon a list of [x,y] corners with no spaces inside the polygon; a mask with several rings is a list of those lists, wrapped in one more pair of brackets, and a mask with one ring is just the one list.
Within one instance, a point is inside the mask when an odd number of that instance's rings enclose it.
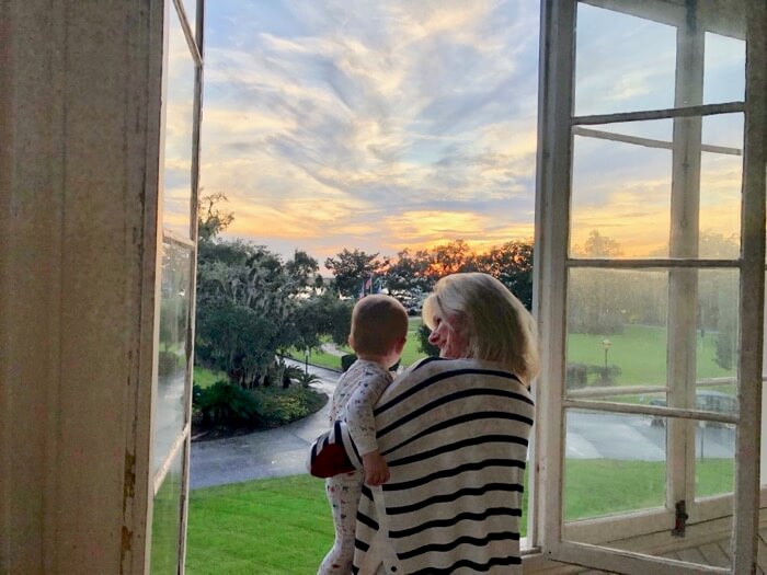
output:
{"label": "wet grey paved driveway curving left of the baby", "polygon": [[[312,387],[330,396],[339,373],[312,366],[309,370],[320,377]],[[192,444],[191,488],[306,473],[309,446],[328,428],[329,410],[327,403],[313,415],[277,429]]]}

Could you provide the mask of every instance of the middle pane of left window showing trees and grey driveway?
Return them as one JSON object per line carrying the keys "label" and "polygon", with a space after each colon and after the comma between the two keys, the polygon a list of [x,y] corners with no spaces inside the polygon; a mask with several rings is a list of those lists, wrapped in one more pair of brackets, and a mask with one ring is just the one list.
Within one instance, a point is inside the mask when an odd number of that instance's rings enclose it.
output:
{"label": "middle pane of left window showing trees and grey driveway", "polygon": [[191,266],[188,248],[168,242],[162,244],[154,471],[168,457],[171,445],[184,426]]}

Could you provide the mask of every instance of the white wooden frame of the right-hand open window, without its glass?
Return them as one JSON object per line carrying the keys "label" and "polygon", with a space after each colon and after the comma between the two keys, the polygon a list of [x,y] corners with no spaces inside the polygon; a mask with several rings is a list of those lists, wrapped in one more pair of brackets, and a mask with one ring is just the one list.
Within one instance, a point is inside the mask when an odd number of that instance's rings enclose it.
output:
{"label": "white wooden frame of the right-hand open window, without its glass", "polygon": [[[619,9],[622,12],[636,12],[644,16],[648,8],[655,9],[659,21],[682,25],[684,7],[675,2],[645,0],[641,3],[617,0],[591,0],[587,3],[603,8]],[[707,498],[694,504],[690,509],[690,534],[705,537],[717,526],[728,529],[732,521],[733,499],[735,508],[735,529],[733,530],[732,570],[746,573],[756,564],[756,542],[758,536],[759,507],[767,506],[767,496],[759,486],[759,439],[760,439],[760,382],[763,350],[763,313],[765,280],[765,115],[767,114],[767,80],[764,62],[767,60],[765,24],[767,7],[762,0],[746,0],[747,18],[747,56],[746,56],[746,100],[745,103],[697,105],[686,108],[684,113],[675,110],[660,110],[626,114],[607,114],[589,117],[573,117],[573,74],[575,46],[575,0],[543,0],[541,2],[541,53],[539,80],[539,145],[537,168],[536,198],[536,290],[534,309],[537,311],[542,341],[542,371],[537,390],[537,425],[535,430],[534,453],[535,468],[538,472],[531,481],[528,542],[531,551],[540,551],[547,557],[586,565],[589,567],[614,570],[626,573],[646,573],[649,568],[663,574],[676,573],[730,573],[721,567],[706,567],[684,562],[651,557],[631,551],[618,551],[598,547],[607,539],[620,539],[632,536],[637,538],[637,549],[660,549],[667,540],[667,528],[659,530],[659,525],[668,525],[674,513],[668,503],[676,501],[679,490],[689,490],[689,469],[683,458],[674,456],[679,449],[679,441],[685,434],[695,433],[691,419],[708,419],[735,423],[736,426],[736,490],[732,495]],[[690,46],[695,49],[695,46]],[[686,57],[684,46],[677,50],[677,67]],[[762,62],[759,69],[758,62]],[[677,83],[687,81],[685,73],[701,73],[700,70],[683,70]],[[749,97],[748,95],[752,95]],[[754,97],[753,95],[759,95]],[[588,124],[609,122],[654,119],[698,116],[720,113],[743,112],[744,159],[743,159],[743,204],[742,204],[742,253],[737,261],[721,260],[672,260],[648,258],[630,261],[571,260],[568,254],[570,228],[570,194],[562,191],[571,188],[572,134]],[[680,123],[682,124],[682,123]],[[676,129],[676,128],[675,128]],[[678,137],[675,140],[678,141]],[[733,153],[733,150],[717,150],[720,153]],[[680,174],[675,174],[677,180]],[[674,209],[674,208],[673,208]],[[593,402],[583,399],[564,399],[564,365],[566,337],[566,277],[570,267],[597,268],[707,268],[731,267],[741,272],[740,341],[739,357],[739,400],[741,411],[737,417],[716,416],[696,410],[674,407],[652,407],[621,403],[603,403],[603,411],[616,413],[642,413],[673,415],[680,417],[676,425],[669,426],[669,459],[687,469],[676,470],[671,475],[677,478],[674,485],[668,485],[667,508],[661,510],[639,511],[610,518],[579,521],[577,525],[564,526],[562,519],[562,480],[564,459],[564,411],[565,407],[594,409]],[[684,277],[684,272],[680,274]],[[669,333],[669,340],[673,337]],[[672,359],[672,358],[669,358]],[[669,361],[669,369],[674,369]],[[685,393],[695,390],[685,390]],[[671,399],[671,395],[669,395]],[[673,405],[673,403],[672,403]],[[691,457],[694,458],[694,453]],[[689,458],[690,455],[684,456]],[[678,478],[684,478],[680,483]],[[710,521],[708,527],[697,528],[695,524]],[[663,522],[661,522],[663,521]],[[579,541],[569,540],[572,530],[579,530]],[[697,531],[697,533],[696,533]],[[654,537],[655,536],[655,537]],[[654,539],[653,539],[654,537]],[[592,544],[593,542],[593,544]]]}

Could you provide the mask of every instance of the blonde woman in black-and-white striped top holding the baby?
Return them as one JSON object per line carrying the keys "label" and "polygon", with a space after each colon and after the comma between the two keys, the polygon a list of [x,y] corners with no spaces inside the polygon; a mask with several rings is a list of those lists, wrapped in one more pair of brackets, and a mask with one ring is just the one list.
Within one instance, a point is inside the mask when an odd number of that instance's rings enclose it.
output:
{"label": "blonde woman in black-and-white striped top holding the baby", "polygon": [[[423,320],[439,358],[408,369],[374,411],[391,479],[363,488],[354,573],[520,572],[528,384],[538,371],[534,320],[485,274],[440,279]],[[359,467],[336,422],[312,447],[312,473],[329,472],[340,447]]]}

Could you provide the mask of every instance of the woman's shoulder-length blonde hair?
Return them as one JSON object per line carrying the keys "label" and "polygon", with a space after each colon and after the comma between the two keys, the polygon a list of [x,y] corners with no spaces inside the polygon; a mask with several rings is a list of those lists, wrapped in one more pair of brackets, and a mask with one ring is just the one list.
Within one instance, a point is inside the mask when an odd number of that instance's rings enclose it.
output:
{"label": "woman's shoulder-length blonde hair", "polygon": [[530,383],[539,369],[538,331],[533,315],[488,274],[443,277],[423,303],[423,321],[433,329],[436,311],[467,338],[467,357],[497,361]]}

